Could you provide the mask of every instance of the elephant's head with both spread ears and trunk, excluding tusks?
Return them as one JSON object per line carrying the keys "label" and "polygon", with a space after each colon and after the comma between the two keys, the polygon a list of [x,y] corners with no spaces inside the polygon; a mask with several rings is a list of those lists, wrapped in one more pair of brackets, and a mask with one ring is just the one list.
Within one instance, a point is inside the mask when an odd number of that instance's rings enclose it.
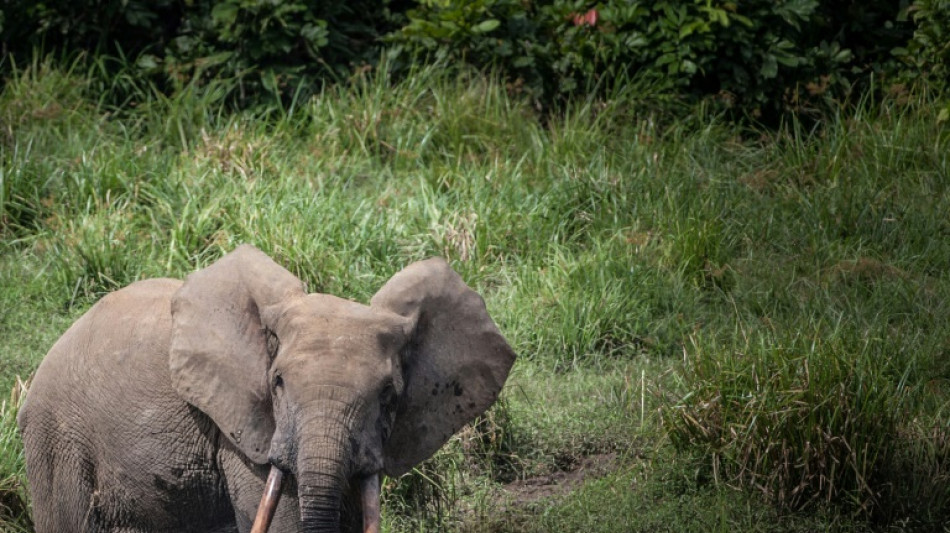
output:
{"label": "elephant's head with both spread ears and trunk, excluding tusks", "polygon": [[250,461],[295,476],[306,531],[339,530],[346,487],[435,453],[495,401],[515,359],[441,259],[366,306],[307,294],[245,245],[188,276],[172,324],[175,390]]}

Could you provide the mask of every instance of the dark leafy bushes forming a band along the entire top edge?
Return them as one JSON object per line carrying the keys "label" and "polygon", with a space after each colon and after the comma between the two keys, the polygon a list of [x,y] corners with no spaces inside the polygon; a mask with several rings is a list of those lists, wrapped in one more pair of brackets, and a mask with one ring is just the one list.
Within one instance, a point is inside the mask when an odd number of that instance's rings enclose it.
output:
{"label": "dark leafy bushes forming a band along the entire top edge", "polygon": [[40,46],[137,58],[166,88],[235,79],[250,102],[261,89],[286,95],[305,78],[345,76],[385,48],[397,70],[424,56],[494,68],[544,105],[636,76],[653,96],[774,116],[841,101],[870,74],[894,74],[895,49],[905,64],[945,77],[945,4],[11,0],[0,7],[0,36],[4,53],[21,57]]}

